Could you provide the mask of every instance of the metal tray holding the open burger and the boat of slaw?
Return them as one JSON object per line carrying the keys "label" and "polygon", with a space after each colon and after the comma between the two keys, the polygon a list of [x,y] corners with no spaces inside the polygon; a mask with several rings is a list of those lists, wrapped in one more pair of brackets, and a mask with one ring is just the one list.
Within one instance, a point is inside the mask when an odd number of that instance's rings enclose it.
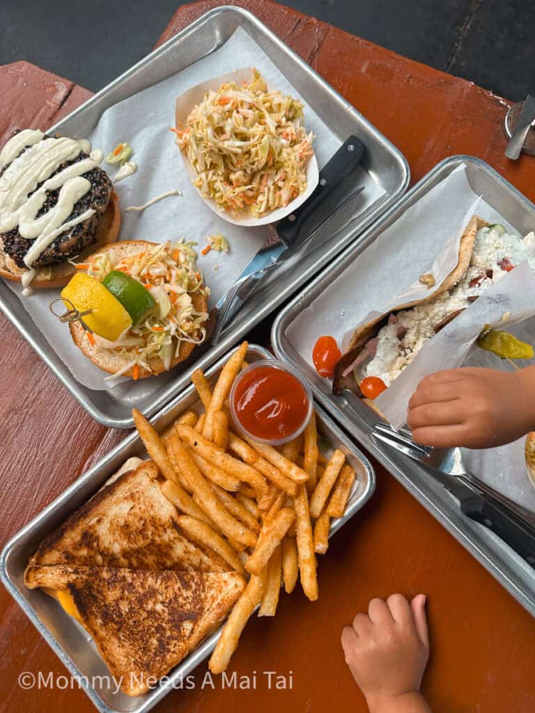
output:
{"label": "metal tray holding the open burger and the boat of slaw", "polygon": [[[221,7],[203,15],[51,127],[50,131],[76,137],[86,135],[107,108],[208,56],[223,46],[238,27],[247,31],[263,48],[341,141],[350,134],[362,139],[367,146],[363,168],[384,188],[385,193],[362,215],[352,215],[348,207],[345,215],[340,215],[340,222],[337,219],[337,225],[347,225],[337,231],[327,245],[314,251],[312,240],[302,255],[299,254],[296,260],[288,260],[285,267],[277,271],[276,286],[274,282],[266,282],[258,289],[223,333],[223,339],[217,347],[198,351],[200,356],[195,364],[188,361],[181,369],[173,369],[157,379],[143,379],[143,386],[140,382],[136,384],[136,389],[132,389],[129,384],[119,384],[106,391],[93,391],[79,384],[29,314],[21,309],[19,298],[2,281],[0,309],[83,408],[105,426],[131,428],[133,406],[146,415],[156,413],[175,394],[185,389],[193,369],[197,366],[205,369],[218,356],[227,352],[255,324],[315,275],[322,265],[330,262],[365,227],[371,225],[402,195],[409,183],[407,161],[399,150],[253,14],[238,7]],[[333,225],[330,226],[332,228]],[[321,234],[317,237],[321,238]]]}

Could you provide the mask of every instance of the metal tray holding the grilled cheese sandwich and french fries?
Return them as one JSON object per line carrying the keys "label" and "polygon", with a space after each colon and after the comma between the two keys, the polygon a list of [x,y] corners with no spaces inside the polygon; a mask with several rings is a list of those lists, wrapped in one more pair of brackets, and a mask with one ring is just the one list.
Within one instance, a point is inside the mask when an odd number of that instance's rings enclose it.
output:
{"label": "metal tray holding the grilled cheese sandwich and french fries", "polygon": [[[230,352],[232,353],[232,352]],[[217,379],[220,369],[229,354],[225,354],[216,364],[206,372],[211,382]],[[247,359],[270,358],[272,354],[263,347],[250,345]],[[158,431],[163,431],[180,413],[187,409],[195,408],[198,396],[193,386],[177,396],[173,401],[152,419]],[[360,510],[365,502],[372,496],[375,488],[375,475],[370,461],[361,453],[359,448],[350,441],[335,423],[321,408],[317,408],[318,431],[332,448],[341,448],[346,453],[347,461],[357,471],[355,486],[353,488],[347,510],[342,518],[332,520],[330,535]],[[136,432],[127,436],[113,451],[96,463],[87,473],[78,478],[56,500],[37,515],[14,538],[12,538],[0,555],[0,578],[6,589],[14,597],[26,616],[43,635],[54,652],[67,667],[69,672],[81,679],[88,677],[110,677],[108,668],[93,645],[91,637],[80,627],[76,621],[68,616],[61,606],[41,590],[29,590],[24,586],[23,575],[29,556],[34,553],[39,543],[54,528],[58,527],[68,515],[91,498],[98,488],[111,476],[112,473],[131,456],[146,456],[146,451],[141,439]],[[320,587],[321,589],[321,587]],[[300,596],[297,594],[297,596]],[[170,672],[168,680],[150,692],[138,697],[128,697],[123,693],[115,693],[112,689],[102,687],[93,688],[83,684],[81,687],[99,711],[103,713],[129,712],[144,713],[151,709],[173,687],[180,687],[180,681],[204,661],[212,652],[220,636],[220,630],[208,637],[193,653],[183,660],[175,670]],[[97,679],[98,681],[98,679]]]}

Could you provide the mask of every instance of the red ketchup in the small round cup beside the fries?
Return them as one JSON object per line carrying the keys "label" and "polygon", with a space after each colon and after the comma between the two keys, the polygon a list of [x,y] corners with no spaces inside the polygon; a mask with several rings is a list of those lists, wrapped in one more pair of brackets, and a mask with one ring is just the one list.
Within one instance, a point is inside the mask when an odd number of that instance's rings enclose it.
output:
{"label": "red ketchup in the small round cup beside the fries", "polygon": [[295,434],[308,414],[307,392],[295,376],[275,366],[257,366],[235,384],[235,418],[251,436],[278,441]]}

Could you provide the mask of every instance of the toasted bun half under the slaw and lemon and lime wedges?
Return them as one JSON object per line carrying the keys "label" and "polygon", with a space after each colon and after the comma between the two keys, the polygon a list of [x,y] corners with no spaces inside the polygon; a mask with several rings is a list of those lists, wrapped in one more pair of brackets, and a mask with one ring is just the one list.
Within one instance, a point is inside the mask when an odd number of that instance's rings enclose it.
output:
{"label": "toasted bun half under the slaw and lemon and lime wedges", "polygon": [[[143,249],[146,245],[156,245],[154,242],[148,242],[147,240],[121,240],[121,242],[113,243],[113,245],[106,245],[101,250],[93,252],[93,255],[89,257],[86,262],[91,262],[97,255],[102,255],[106,250],[115,250],[119,255],[135,254]],[[193,295],[193,307],[197,312],[208,312],[208,299],[205,294],[196,293]],[[93,364],[98,366],[99,369],[103,371],[108,371],[109,374],[116,374],[125,364],[127,363],[126,357],[122,354],[117,354],[116,352],[111,352],[109,349],[102,349],[98,347],[97,344],[91,344],[88,339],[88,335],[85,329],[83,329],[80,322],[71,322],[69,324],[69,329],[71,329],[71,337],[73,338],[76,347],[82,350],[82,352],[93,361]],[[173,369],[173,366],[180,364],[181,361],[185,361],[190,356],[193,349],[195,349],[195,344],[190,344],[190,342],[182,342],[180,344],[180,349],[178,355],[175,356],[173,361],[171,361],[169,369]],[[151,371],[147,369],[140,368],[138,373],[138,379],[145,379],[147,376],[156,376],[161,374],[162,371],[167,371],[163,364],[163,361],[158,357],[158,359],[151,359],[149,362],[151,366]],[[133,377],[133,369],[125,371],[123,376]]]}

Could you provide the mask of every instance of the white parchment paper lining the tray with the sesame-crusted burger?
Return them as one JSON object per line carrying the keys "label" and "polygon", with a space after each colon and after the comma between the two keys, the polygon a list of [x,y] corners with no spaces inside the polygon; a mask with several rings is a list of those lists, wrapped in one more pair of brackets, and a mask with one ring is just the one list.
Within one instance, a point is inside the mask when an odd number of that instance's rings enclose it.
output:
{"label": "white parchment paper lining the tray with the sesame-crusted burger", "polygon": [[[205,257],[199,256],[198,267],[203,271],[205,282],[212,291],[210,309],[265,244],[269,237],[269,228],[232,225],[215,215],[199,199],[184,170],[170,127],[174,125],[175,120],[175,101],[181,93],[200,82],[219,76],[222,72],[233,71],[237,63],[241,66],[255,66],[272,86],[302,99],[265,52],[240,28],[228,42],[209,56],[109,108],[88,135],[93,148],[102,148],[105,153],[121,140],[128,140],[135,150],[133,160],[139,165],[138,173],[116,184],[121,207],[142,205],[172,188],[183,191],[182,198],[173,196],[156,203],[141,214],[123,212],[120,236],[122,240],[164,242],[185,237],[186,240],[200,241],[198,247],[202,249],[206,235],[221,232],[228,238],[228,255],[210,250]],[[327,128],[315,111],[304,103],[305,125],[307,130],[316,135],[315,155],[321,167],[342,142]],[[103,164],[103,167],[111,168],[106,164]],[[360,201],[360,210],[364,211],[383,195],[384,190],[369,174],[360,169],[359,171],[359,180],[365,185]],[[111,168],[112,177],[114,173],[115,169]],[[216,266],[217,272],[214,271]],[[29,312],[73,377],[89,389],[113,391],[111,386],[103,381],[106,373],[94,366],[73,344],[66,324],[60,324],[56,317],[50,314],[49,303],[58,297],[59,291],[36,290],[33,297],[24,299],[21,296],[20,284],[9,282],[9,287],[19,295],[21,309]],[[129,397],[135,401],[150,394],[156,388],[156,378],[131,382],[128,385]]]}

